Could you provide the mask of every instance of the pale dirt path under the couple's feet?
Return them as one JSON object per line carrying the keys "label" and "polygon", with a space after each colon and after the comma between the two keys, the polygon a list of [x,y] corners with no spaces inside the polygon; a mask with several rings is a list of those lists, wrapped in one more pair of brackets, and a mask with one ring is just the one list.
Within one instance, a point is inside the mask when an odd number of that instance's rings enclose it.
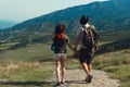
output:
{"label": "pale dirt path under the couple's feet", "polygon": [[[119,83],[116,79],[110,79],[103,71],[92,71],[93,80],[87,84],[84,80],[86,74],[82,70],[67,70],[66,71],[66,83],[60,87],[119,87]],[[56,84],[55,74],[49,79],[51,86]]]}

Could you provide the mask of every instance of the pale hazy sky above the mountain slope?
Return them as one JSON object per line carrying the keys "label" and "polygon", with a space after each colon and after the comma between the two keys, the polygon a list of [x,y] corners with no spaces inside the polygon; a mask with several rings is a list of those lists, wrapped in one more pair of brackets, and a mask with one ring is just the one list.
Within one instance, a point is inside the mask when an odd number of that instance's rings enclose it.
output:
{"label": "pale hazy sky above the mountain slope", "polygon": [[56,10],[104,0],[0,0],[0,20],[23,22]]}

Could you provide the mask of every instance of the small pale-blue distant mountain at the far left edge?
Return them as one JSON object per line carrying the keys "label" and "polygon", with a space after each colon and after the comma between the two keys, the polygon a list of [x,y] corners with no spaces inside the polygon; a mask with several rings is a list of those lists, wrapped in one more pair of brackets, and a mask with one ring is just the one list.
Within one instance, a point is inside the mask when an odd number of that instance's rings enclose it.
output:
{"label": "small pale-blue distant mountain at the far left edge", "polygon": [[0,20],[0,29],[12,27],[16,24],[14,21]]}

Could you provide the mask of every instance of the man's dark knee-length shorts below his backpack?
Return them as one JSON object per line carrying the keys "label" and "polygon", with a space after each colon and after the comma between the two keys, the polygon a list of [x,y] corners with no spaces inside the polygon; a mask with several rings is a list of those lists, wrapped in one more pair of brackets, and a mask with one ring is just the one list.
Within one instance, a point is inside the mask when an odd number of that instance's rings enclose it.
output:
{"label": "man's dark knee-length shorts below his backpack", "polygon": [[93,59],[93,52],[88,49],[80,49],[79,51],[79,61],[80,63],[91,64]]}

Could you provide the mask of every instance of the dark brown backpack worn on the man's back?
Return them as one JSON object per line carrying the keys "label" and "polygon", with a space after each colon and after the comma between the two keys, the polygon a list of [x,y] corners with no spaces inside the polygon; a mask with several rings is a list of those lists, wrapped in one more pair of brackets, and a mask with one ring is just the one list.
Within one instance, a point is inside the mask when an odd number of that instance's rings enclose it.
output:
{"label": "dark brown backpack worn on the man's back", "polygon": [[81,34],[81,41],[88,48],[92,49],[98,47],[99,34],[95,32],[94,26],[90,25],[90,27],[83,27]]}

